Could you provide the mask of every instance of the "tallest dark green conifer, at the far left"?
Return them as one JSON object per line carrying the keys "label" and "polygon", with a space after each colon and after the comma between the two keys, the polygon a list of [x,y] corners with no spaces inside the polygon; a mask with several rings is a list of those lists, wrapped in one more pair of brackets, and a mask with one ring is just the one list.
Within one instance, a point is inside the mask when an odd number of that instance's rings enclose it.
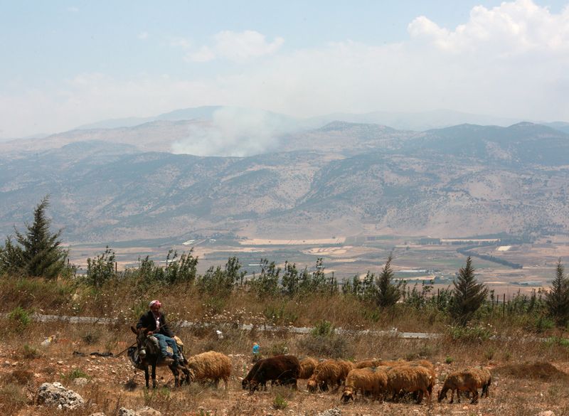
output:
{"label": "tallest dark green conifer, at the far left", "polygon": [[21,270],[31,277],[54,279],[63,271],[68,252],[61,247],[60,235],[50,233],[51,221],[46,218],[49,197],[42,199],[33,210],[33,223],[26,224],[26,233],[16,231],[16,241],[21,246]]}

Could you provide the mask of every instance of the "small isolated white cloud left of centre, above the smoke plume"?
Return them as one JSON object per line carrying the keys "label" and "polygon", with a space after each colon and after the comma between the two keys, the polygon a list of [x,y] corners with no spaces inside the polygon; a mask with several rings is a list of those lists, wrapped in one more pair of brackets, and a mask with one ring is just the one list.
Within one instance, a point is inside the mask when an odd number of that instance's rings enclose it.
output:
{"label": "small isolated white cloud left of centre, above the smoke plume", "polygon": [[222,31],[213,36],[212,46],[202,46],[186,55],[186,60],[207,62],[216,58],[243,63],[250,58],[275,53],[285,42],[277,37],[267,42],[265,36],[257,31]]}

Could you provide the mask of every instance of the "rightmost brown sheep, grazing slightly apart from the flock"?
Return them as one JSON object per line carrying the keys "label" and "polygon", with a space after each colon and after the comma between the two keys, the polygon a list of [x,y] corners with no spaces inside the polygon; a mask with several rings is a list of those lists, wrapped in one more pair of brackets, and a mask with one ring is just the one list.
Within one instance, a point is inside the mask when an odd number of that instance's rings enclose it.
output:
{"label": "rightmost brown sheep, grazing slightly apart from the flock", "polygon": [[460,391],[472,393],[471,404],[478,402],[478,389],[482,388],[482,395],[488,397],[488,390],[491,383],[491,374],[486,368],[466,368],[462,371],[450,373],[445,378],[445,384],[439,393],[438,401],[447,398],[447,391],[451,390],[450,402],[454,402],[454,391],[457,392],[457,400],[460,402]]}

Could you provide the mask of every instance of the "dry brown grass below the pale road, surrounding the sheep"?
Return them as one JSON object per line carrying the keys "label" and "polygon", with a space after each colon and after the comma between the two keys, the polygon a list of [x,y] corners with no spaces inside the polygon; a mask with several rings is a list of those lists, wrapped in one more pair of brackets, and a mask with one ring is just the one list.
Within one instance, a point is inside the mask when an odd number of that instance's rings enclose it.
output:
{"label": "dry brown grass below the pale road, surrounding the sheep", "polygon": [[[95,342],[85,342],[86,332],[96,332]],[[49,334],[58,334],[60,341],[50,346],[41,346],[41,341]],[[396,415],[400,412],[418,414],[446,415],[454,412],[484,415],[536,415],[538,410],[553,410],[556,415],[567,412],[569,403],[569,385],[567,372],[569,360],[567,348],[541,341],[521,342],[482,341],[462,343],[450,338],[413,340],[395,336],[345,336],[349,353],[343,358],[354,361],[364,358],[411,359],[427,358],[435,363],[437,386],[440,389],[447,373],[473,365],[489,366],[493,373],[490,398],[481,399],[479,405],[461,405],[436,403],[429,407],[426,403],[415,405],[411,401],[399,403],[372,402],[363,398],[341,405],[338,394],[307,393],[306,382],[299,382],[299,391],[292,392],[285,388],[269,388],[266,392],[249,396],[240,388],[240,377],[251,366],[250,348],[255,340],[261,345],[265,355],[282,346],[289,353],[307,356],[303,346],[309,341],[309,335],[299,336],[283,331],[282,333],[262,330],[239,331],[231,329],[224,332],[223,340],[214,338],[210,333],[196,336],[191,331],[182,331],[188,350],[198,353],[214,348],[228,353],[232,360],[233,375],[228,392],[222,388],[215,390],[202,385],[185,385],[173,388],[173,377],[169,370],[158,369],[159,388],[147,392],[142,372],[134,372],[124,355],[117,358],[97,358],[74,356],[73,351],[90,353],[103,352],[114,340],[117,353],[123,346],[133,341],[127,326],[117,330],[114,326],[75,325],[75,324],[33,324],[30,331],[19,336],[3,338],[0,343],[0,356],[4,364],[0,368],[0,410],[7,415],[53,415],[49,408],[33,405],[33,397],[41,383],[59,381],[72,388],[87,400],[83,410],[66,412],[66,415],[90,415],[92,412],[105,412],[117,415],[119,407],[137,409],[149,405],[163,415],[315,415],[322,410],[341,407],[343,415]],[[23,359],[22,343],[38,349],[36,358]],[[494,351],[489,358],[488,351]],[[507,361],[504,356],[509,354]],[[447,363],[447,357],[452,362]],[[523,361],[522,358],[523,357]],[[327,358],[319,356],[318,358]],[[544,362],[546,360],[547,362]],[[14,363],[17,363],[14,365]],[[68,375],[78,370],[91,377],[85,387],[73,385]],[[114,373],[113,373],[114,370]],[[275,399],[280,395],[287,402],[285,410],[275,410]],[[467,408],[464,409],[464,406]],[[282,413],[281,413],[282,412]]]}

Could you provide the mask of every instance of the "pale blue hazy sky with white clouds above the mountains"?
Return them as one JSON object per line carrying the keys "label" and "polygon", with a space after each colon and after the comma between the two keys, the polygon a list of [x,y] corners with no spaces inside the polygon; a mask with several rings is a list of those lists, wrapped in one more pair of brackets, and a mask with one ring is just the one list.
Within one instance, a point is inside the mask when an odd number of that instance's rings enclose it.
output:
{"label": "pale blue hazy sky with white clouds above the mountains", "polygon": [[569,121],[567,0],[0,7],[0,139],[200,105]]}

